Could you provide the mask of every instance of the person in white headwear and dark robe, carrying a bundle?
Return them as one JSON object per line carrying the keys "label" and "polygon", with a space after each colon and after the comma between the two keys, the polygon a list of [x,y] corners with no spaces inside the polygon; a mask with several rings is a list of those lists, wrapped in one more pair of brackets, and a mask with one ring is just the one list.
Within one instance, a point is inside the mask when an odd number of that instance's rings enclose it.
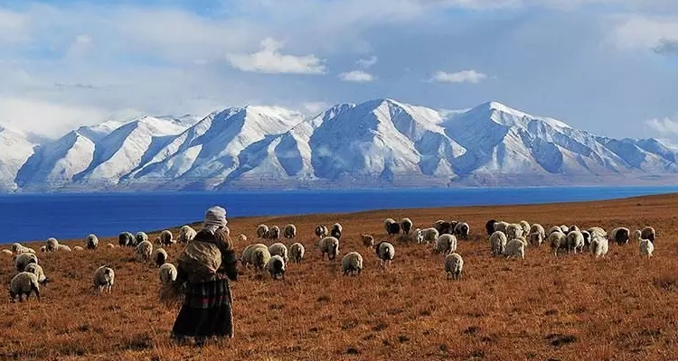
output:
{"label": "person in white headwear and dark robe, carrying a bundle", "polygon": [[223,230],[227,223],[226,209],[207,209],[202,230],[179,256],[173,287],[183,291],[184,301],[172,337],[181,344],[186,338],[197,346],[208,338],[233,338],[229,279],[236,281],[238,272],[231,238]]}

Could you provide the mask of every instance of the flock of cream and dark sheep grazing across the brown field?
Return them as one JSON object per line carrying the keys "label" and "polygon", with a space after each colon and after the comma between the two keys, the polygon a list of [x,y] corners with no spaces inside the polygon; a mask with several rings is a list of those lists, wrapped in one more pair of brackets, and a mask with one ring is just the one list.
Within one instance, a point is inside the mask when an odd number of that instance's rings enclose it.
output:
{"label": "flock of cream and dark sheep grazing across the brown field", "polygon": [[[457,237],[466,239],[470,235],[470,227],[466,222],[438,220],[432,227],[413,228],[410,218],[403,218],[400,222],[392,218],[387,218],[383,223],[386,236],[393,238],[400,236],[400,242],[413,243],[418,245],[432,245],[431,251],[434,254],[444,255],[443,267],[446,278],[459,279],[464,268],[464,259],[457,253]],[[230,236],[230,229],[225,228]],[[489,239],[489,247],[492,255],[501,255],[506,258],[519,257],[525,258],[525,249],[528,246],[538,247],[543,243],[551,246],[553,255],[558,256],[559,252],[567,254],[577,254],[589,252],[595,258],[605,257],[609,249],[609,242],[616,242],[617,245],[626,245],[633,239],[639,245],[640,255],[651,257],[654,252],[654,238],[656,233],[653,227],[645,227],[641,230],[630,232],[626,227],[617,227],[609,233],[602,227],[590,227],[581,230],[572,225],[553,226],[548,231],[539,224],[530,225],[522,220],[518,223],[508,223],[491,219],[485,224],[485,230]],[[320,225],[315,227],[315,236],[318,241],[315,246],[320,250],[321,257],[325,255],[329,260],[334,261],[339,255],[339,245],[342,239],[343,227],[335,223],[332,227]],[[289,224],[283,228],[281,235],[278,226],[268,227],[259,225],[256,235],[261,240],[277,241],[280,236],[287,239],[297,237],[297,227]],[[171,246],[176,243],[187,244],[193,241],[196,236],[195,230],[190,226],[181,227],[179,236],[174,239],[174,235],[169,230],[161,232],[160,236],[155,238],[155,244],[161,247],[154,249],[154,244],[148,240],[144,232],[138,232],[133,235],[129,232],[123,232],[118,236],[118,246],[134,247],[137,255],[146,262],[153,262],[158,267],[159,280],[163,284],[174,282],[176,280],[176,267],[168,263],[168,256],[162,246]],[[361,235],[362,243],[365,247],[372,248],[379,259],[381,267],[390,267],[391,261],[395,256],[395,246],[388,241],[381,241],[375,244],[374,236],[368,234]],[[238,236],[239,244],[247,242],[247,236],[240,234]],[[84,247],[74,246],[75,251],[84,251],[85,249],[94,250],[99,246],[99,239],[95,235],[89,235],[84,241]],[[116,245],[108,244],[107,248],[115,248]],[[67,245],[60,245],[55,238],[49,238],[46,244],[41,247],[42,252],[71,252]],[[15,300],[23,301],[33,292],[38,301],[40,301],[40,286],[50,282],[46,277],[42,266],[39,265],[38,257],[32,248],[15,243],[12,250],[2,250],[4,255],[14,255],[14,267],[17,274],[10,282],[9,294]],[[271,245],[256,243],[247,245],[242,251],[240,263],[243,267],[252,266],[258,272],[268,272],[275,280],[285,279],[286,265],[290,261],[293,264],[301,263],[306,254],[304,245],[294,243],[287,248],[287,245],[281,242],[274,242]],[[344,275],[356,275],[363,271],[363,255],[357,251],[352,251],[344,255],[341,260],[342,273]],[[93,287],[101,292],[111,292],[115,282],[115,271],[107,266],[100,266],[93,274]]]}

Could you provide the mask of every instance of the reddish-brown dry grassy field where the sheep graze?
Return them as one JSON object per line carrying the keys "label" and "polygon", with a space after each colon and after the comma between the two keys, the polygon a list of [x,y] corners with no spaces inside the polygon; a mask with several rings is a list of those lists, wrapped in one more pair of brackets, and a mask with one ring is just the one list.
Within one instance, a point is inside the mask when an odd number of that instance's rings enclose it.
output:
{"label": "reddish-brown dry grassy field where the sheep graze", "polygon": [[[519,202],[520,199],[516,199]],[[224,205],[228,207],[228,205]],[[205,347],[169,339],[178,310],[157,301],[157,268],[132,249],[39,254],[53,282],[42,302],[0,302],[0,359],[44,360],[672,360],[678,359],[678,196],[539,206],[437,208],[345,215],[232,218],[231,236],[256,242],[259,223],[294,223],[306,246],[303,264],[286,280],[240,271],[232,282],[235,338]],[[272,213],[275,210],[271,210]],[[196,215],[200,218],[202,215]],[[466,220],[460,240],[465,276],[446,281],[442,255],[425,245],[400,245],[382,270],[360,234],[386,238],[382,220],[410,217],[416,227],[440,219]],[[485,236],[489,218],[552,225],[632,230],[654,226],[652,259],[638,246],[610,245],[607,259],[554,257],[548,246],[528,248],[525,260],[493,258]],[[74,222],[77,219],[73,220]],[[339,262],[322,261],[317,224],[344,225],[341,255],[358,251],[363,274],[341,275]],[[136,230],[135,230],[136,231]],[[174,230],[176,235],[176,230]],[[83,235],[83,237],[86,235]],[[151,239],[155,235],[150,235]],[[287,245],[292,242],[284,241]],[[63,242],[82,245],[83,241]],[[268,242],[267,242],[268,243]],[[28,244],[37,249],[42,243]],[[244,244],[237,244],[240,251]],[[181,251],[168,249],[170,260]],[[340,257],[341,257],[340,255]],[[340,258],[339,257],[339,258]],[[99,265],[116,271],[110,295],[95,295]],[[0,278],[14,275],[9,256]]]}

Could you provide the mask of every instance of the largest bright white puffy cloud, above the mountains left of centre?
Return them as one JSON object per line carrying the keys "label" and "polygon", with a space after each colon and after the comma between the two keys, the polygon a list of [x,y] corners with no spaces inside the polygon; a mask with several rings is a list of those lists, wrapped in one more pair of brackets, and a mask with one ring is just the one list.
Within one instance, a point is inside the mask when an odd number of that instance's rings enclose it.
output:
{"label": "largest bright white puffy cloud, above the mountains left of centre", "polygon": [[266,74],[325,74],[325,60],[315,55],[294,56],[278,52],[283,44],[267,38],[261,50],[251,54],[229,54],[226,60],[235,69]]}

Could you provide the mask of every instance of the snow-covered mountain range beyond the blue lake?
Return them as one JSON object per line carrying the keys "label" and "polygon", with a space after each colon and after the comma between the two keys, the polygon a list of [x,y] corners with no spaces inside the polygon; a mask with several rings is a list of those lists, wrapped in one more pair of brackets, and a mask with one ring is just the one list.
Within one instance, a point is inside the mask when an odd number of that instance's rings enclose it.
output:
{"label": "snow-covered mountain range beyond the blue lake", "polygon": [[450,111],[385,98],[332,106],[306,118],[279,107],[245,106],[200,120],[146,116],[80,127],[34,152],[33,146],[21,134],[0,132],[6,190],[678,179],[678,147],[670,143],[589,134],[496,102]]}

